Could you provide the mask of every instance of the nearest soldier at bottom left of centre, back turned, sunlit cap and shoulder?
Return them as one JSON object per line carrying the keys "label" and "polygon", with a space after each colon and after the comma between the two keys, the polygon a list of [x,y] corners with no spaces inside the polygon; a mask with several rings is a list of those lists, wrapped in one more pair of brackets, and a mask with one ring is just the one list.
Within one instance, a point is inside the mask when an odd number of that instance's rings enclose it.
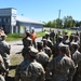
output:
{"label": "nearest soldier at bottom left of centre, back turned, sunlit cap and shoulder", "polygon": [[28,58],[16,68],[15,81],[44,81],[44,69],[36,62],[38,50],[29,48],[25,53]]}

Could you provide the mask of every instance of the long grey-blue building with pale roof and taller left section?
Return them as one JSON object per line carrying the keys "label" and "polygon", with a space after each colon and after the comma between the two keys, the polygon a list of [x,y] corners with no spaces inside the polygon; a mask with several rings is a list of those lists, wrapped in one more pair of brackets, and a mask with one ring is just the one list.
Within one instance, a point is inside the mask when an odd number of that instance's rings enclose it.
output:
{"label": "long grey-blue building with pale roof and taller left section", "polygon": [[23,15],[17,15],[17,10],[13,8],[0,9],[0,27],[3,27],[5,33],[23,33],[25,30],[35,29],[41,31],[43,24]]}

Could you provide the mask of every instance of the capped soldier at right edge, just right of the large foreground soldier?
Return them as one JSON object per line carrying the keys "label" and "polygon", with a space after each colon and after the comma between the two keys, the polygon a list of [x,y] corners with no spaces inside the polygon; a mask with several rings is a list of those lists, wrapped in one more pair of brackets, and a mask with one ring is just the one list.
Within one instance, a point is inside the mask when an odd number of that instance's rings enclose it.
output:
{"label": "capped soldier at right edge, just right of the large foreground soldier", "polygon": [[72,48],[72,55],[71,55],[71,58],[73,59],[75,62],[75,65],[76,65],[76,75],[73,77],[73,81],[76,80],[77,76],[78,76],[78,65],[79,63],[81,63],[81,53],[79,52],[79,44],[77,42],[71,42],[71,48]]}

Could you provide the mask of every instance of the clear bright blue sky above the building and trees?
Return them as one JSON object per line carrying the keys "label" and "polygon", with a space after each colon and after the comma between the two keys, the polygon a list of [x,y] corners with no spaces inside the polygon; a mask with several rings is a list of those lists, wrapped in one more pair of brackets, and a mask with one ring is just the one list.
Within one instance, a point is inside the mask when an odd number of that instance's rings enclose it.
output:
{"label": "clear bright blue sky above the building and trees", "polygon": [[15,8],[17,15],[36,21],[49,22],[60,17],[72,16],[81,21],[81,0],[0,0],[0,9]]}

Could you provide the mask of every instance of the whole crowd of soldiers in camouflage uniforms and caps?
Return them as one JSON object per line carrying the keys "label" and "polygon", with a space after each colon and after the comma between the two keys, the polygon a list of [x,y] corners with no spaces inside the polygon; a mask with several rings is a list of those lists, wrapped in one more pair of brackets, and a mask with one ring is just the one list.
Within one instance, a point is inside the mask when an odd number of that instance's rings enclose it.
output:
{"label": "whole crowd of soldiers in camouflage uniforms and caps", "polygon": [[[35,30],[33,30],[35,32]],[[0,81],[10,70],[11,46],[0,35]],[[38,42],[30,31],[23,38],[24,60],[15,69],[15,81],[81,81],[80,33],[45,32]],[[3,65],[4,63],[4,65]],[[2,69],[2,70],[1,70]]]}

